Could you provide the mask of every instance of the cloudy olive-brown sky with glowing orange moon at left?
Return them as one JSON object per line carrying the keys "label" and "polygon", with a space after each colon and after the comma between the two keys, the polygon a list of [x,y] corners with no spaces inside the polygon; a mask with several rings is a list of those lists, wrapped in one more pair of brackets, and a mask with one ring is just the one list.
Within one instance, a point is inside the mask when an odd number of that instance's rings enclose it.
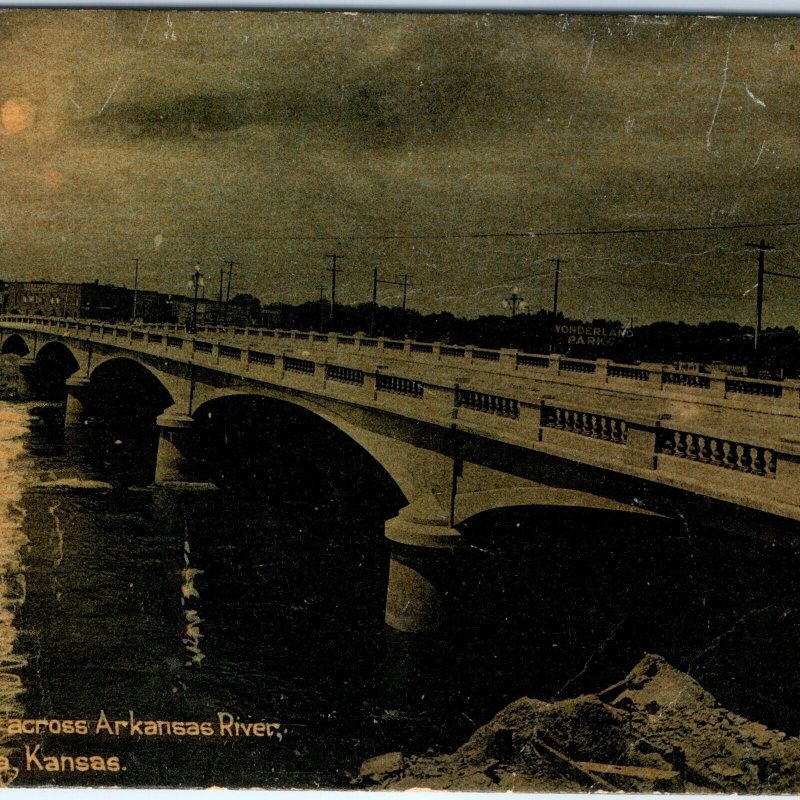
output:
{"label": "cloudy olive-brown sky with glowing orange moon at left", "polygon": [[[800,228],[464,233],[800,220],[800,22],[631,16],[0,14],[0,274],[298,302],[652,319],[754,316]],[[442,234],[444,238],[356,238]],[[324,239],[315,237],[340,237]],[[305,238],[281,238],[305,237]],[[381,299],[398,302],[384,287]],[[800,323],[770,277],[766,324]]]}

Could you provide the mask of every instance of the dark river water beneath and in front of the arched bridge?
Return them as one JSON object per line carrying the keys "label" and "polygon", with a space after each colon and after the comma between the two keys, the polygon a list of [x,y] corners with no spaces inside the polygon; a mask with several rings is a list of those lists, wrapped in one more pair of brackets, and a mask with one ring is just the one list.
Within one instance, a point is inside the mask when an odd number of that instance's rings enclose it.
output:
{"label": "dark river water beneath and in front of the arched bridge", "polygon": [[365,758],[452,749],[512,699],[600,690],[645,652],[800,730],[793,546],[495,513],[466,528],[445,630],[409,637],[383,622],[396,488],[323,423],[251,412],[205,423],[223,488],[175,492],[148,487],[152,431],[65,433],[58,404],[0,403],[0,719],[227,712],[280,733],[9,735],[18,767],[36,744],[124,767],[17,784],[345,787]]}

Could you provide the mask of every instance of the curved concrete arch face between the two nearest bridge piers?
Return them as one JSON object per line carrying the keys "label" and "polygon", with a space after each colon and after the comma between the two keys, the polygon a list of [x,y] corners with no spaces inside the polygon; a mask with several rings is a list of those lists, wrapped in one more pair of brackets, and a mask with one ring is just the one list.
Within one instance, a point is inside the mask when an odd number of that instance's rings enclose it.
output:
{"label": "curved concrete arch face between the two nearest bridge piers", "polygon": [[[260,397],[266,400],[285,403],[286,405],[296,406],[308,411],[319,419],[324,420],[332,427],[344,433],[364,450],[378,466],[394,481],[400,492],[411,503],[421,493],[420,487],[413,478],[413,470],[407,468],[408,455],[402,451],[404,448],[412,450],[410,445],[385,436],[380,436],[361,428],[356,427],[339,415],[333,414],[327,409],[323,409],[316,403],[302,396],[288,396],[281,392],[270,392],[268,390],[231,390],[231,389],[206,389],[198,397],[192,416],[200,418],[204,411],[208,410],[209,405],[217,401],[229,398],[249,398]],[[416,457],[419,458],[419,453]],[[428,492],[429,493],[429,492]]]}

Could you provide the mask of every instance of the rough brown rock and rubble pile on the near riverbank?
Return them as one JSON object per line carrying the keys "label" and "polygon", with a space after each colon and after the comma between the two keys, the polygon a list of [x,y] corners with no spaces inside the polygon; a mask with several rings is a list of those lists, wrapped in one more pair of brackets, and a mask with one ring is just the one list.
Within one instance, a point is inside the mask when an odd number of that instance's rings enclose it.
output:
{"label": "rough brown rock and rubble pile on the near riverbank", "polygon": [[648,655],[597,695],[523,697],[450,755],[387,753],[362,788],[526,792],[800,790],[800,739],[722,707],[688,675]]}

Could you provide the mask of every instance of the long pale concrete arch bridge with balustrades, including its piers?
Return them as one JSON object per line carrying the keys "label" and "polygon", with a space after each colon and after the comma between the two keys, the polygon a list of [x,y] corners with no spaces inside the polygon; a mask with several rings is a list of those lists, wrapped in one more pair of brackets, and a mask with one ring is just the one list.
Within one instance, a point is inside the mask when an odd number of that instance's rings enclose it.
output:
{"label": "long pale concrete arch bridge with balustrades, including its piers", "polygon": [[30,364],[48,348],[71,353],[67,423],[103,363],[147,368],[173,401],[157,420],[156,482],[165,485],[189,480],[193,422],[222,397],[282,400],[343,430],[408,500],[386,523],[387,621],[402,630],[438,624],[445,554],[463,541],[457,526],[491,509],[588,507],[767,536],[771,519],[800,521],[793,381],[363,335],[189,335],[34,317],[0,319],[0,346],[27,350]]}

